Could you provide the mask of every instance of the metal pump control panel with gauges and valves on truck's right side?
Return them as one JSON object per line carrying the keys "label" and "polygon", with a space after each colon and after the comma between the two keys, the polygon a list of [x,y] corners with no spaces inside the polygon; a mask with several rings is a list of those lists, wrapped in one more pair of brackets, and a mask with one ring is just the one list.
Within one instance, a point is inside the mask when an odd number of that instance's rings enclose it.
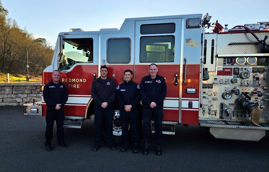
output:
{"label": "metal pump control panel with gauges and valves on truck's right side", "polygon": [[268,121],[268,66],[268,56],[217,57],[216,72],[209,72],[209,80],[202,83],[199,117],[250,120],[241,99],[257,105],[260,121]]}

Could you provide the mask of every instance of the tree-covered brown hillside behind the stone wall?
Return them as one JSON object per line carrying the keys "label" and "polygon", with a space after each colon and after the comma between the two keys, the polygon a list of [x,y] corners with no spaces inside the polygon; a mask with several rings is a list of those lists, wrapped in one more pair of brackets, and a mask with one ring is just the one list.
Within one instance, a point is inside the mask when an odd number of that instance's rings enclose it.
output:
{"label": "tree-covered brown hillside behind the stone wall", "polygon": [[27,75],[27,51],[29,76],[41,76],[51,64],[54,47],[45,38],[35,38],[21,29],[15,20],[8,18],[8,10],[0,1],[0,72]]}

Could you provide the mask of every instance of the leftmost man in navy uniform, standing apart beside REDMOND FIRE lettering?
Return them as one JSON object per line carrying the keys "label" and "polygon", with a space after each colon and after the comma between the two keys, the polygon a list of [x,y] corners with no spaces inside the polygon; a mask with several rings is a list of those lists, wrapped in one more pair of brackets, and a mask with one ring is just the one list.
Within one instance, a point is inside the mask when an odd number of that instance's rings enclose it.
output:
{"label": "leftmost man in navy uniform, standing apart beside REDMOND FIRE lettering", "polygon": [[51,151],[51,141],[53,138],[53,125],[56,121],[57,125],[57,141],[59,146],[67,148],[67,144],[64,142],[64,109],[63,106],[68,99],[68,92],[66,85],[59,81],[61,73],[59,70],[52,72],[52,80],[47,83],[43,89],[43,98],[47,104],[46,109],[46,132],[45,132],[45,145],[46,150]]}

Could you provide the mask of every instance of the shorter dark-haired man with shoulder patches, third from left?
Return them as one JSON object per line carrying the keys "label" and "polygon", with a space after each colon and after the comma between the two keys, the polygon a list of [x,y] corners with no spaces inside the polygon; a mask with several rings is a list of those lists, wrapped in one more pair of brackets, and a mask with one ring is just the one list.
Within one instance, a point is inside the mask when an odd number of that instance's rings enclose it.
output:
{"label": "shorter dark-haired man with shoulder patches, third from left", "polygon": [[131,140],[133,153],[138,153],[138,112],[137,105],[140,102],[140,86],[132,82],[132,71],[127,69],[123,73],[124,83],[116,88],[116,97],[121,110],[122,141],[123,147],[121,152],[129,149],[128,126],[131,126]]}

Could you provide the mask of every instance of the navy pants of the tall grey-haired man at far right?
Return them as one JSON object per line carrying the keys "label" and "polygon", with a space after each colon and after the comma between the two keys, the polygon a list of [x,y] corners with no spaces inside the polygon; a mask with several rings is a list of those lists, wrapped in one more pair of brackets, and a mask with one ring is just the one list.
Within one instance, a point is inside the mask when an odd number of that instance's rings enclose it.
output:
{"label": "navy pants of the tall grey-haired man at far right", "polygon": [[142,120],[143,120],[143,139],[142,141],[151,140],[151,118],[154,118],[155,126],[155,143],[163,144],[162,142],[162,121],[163,111],[162,109],[146,108],[142,109]]}

